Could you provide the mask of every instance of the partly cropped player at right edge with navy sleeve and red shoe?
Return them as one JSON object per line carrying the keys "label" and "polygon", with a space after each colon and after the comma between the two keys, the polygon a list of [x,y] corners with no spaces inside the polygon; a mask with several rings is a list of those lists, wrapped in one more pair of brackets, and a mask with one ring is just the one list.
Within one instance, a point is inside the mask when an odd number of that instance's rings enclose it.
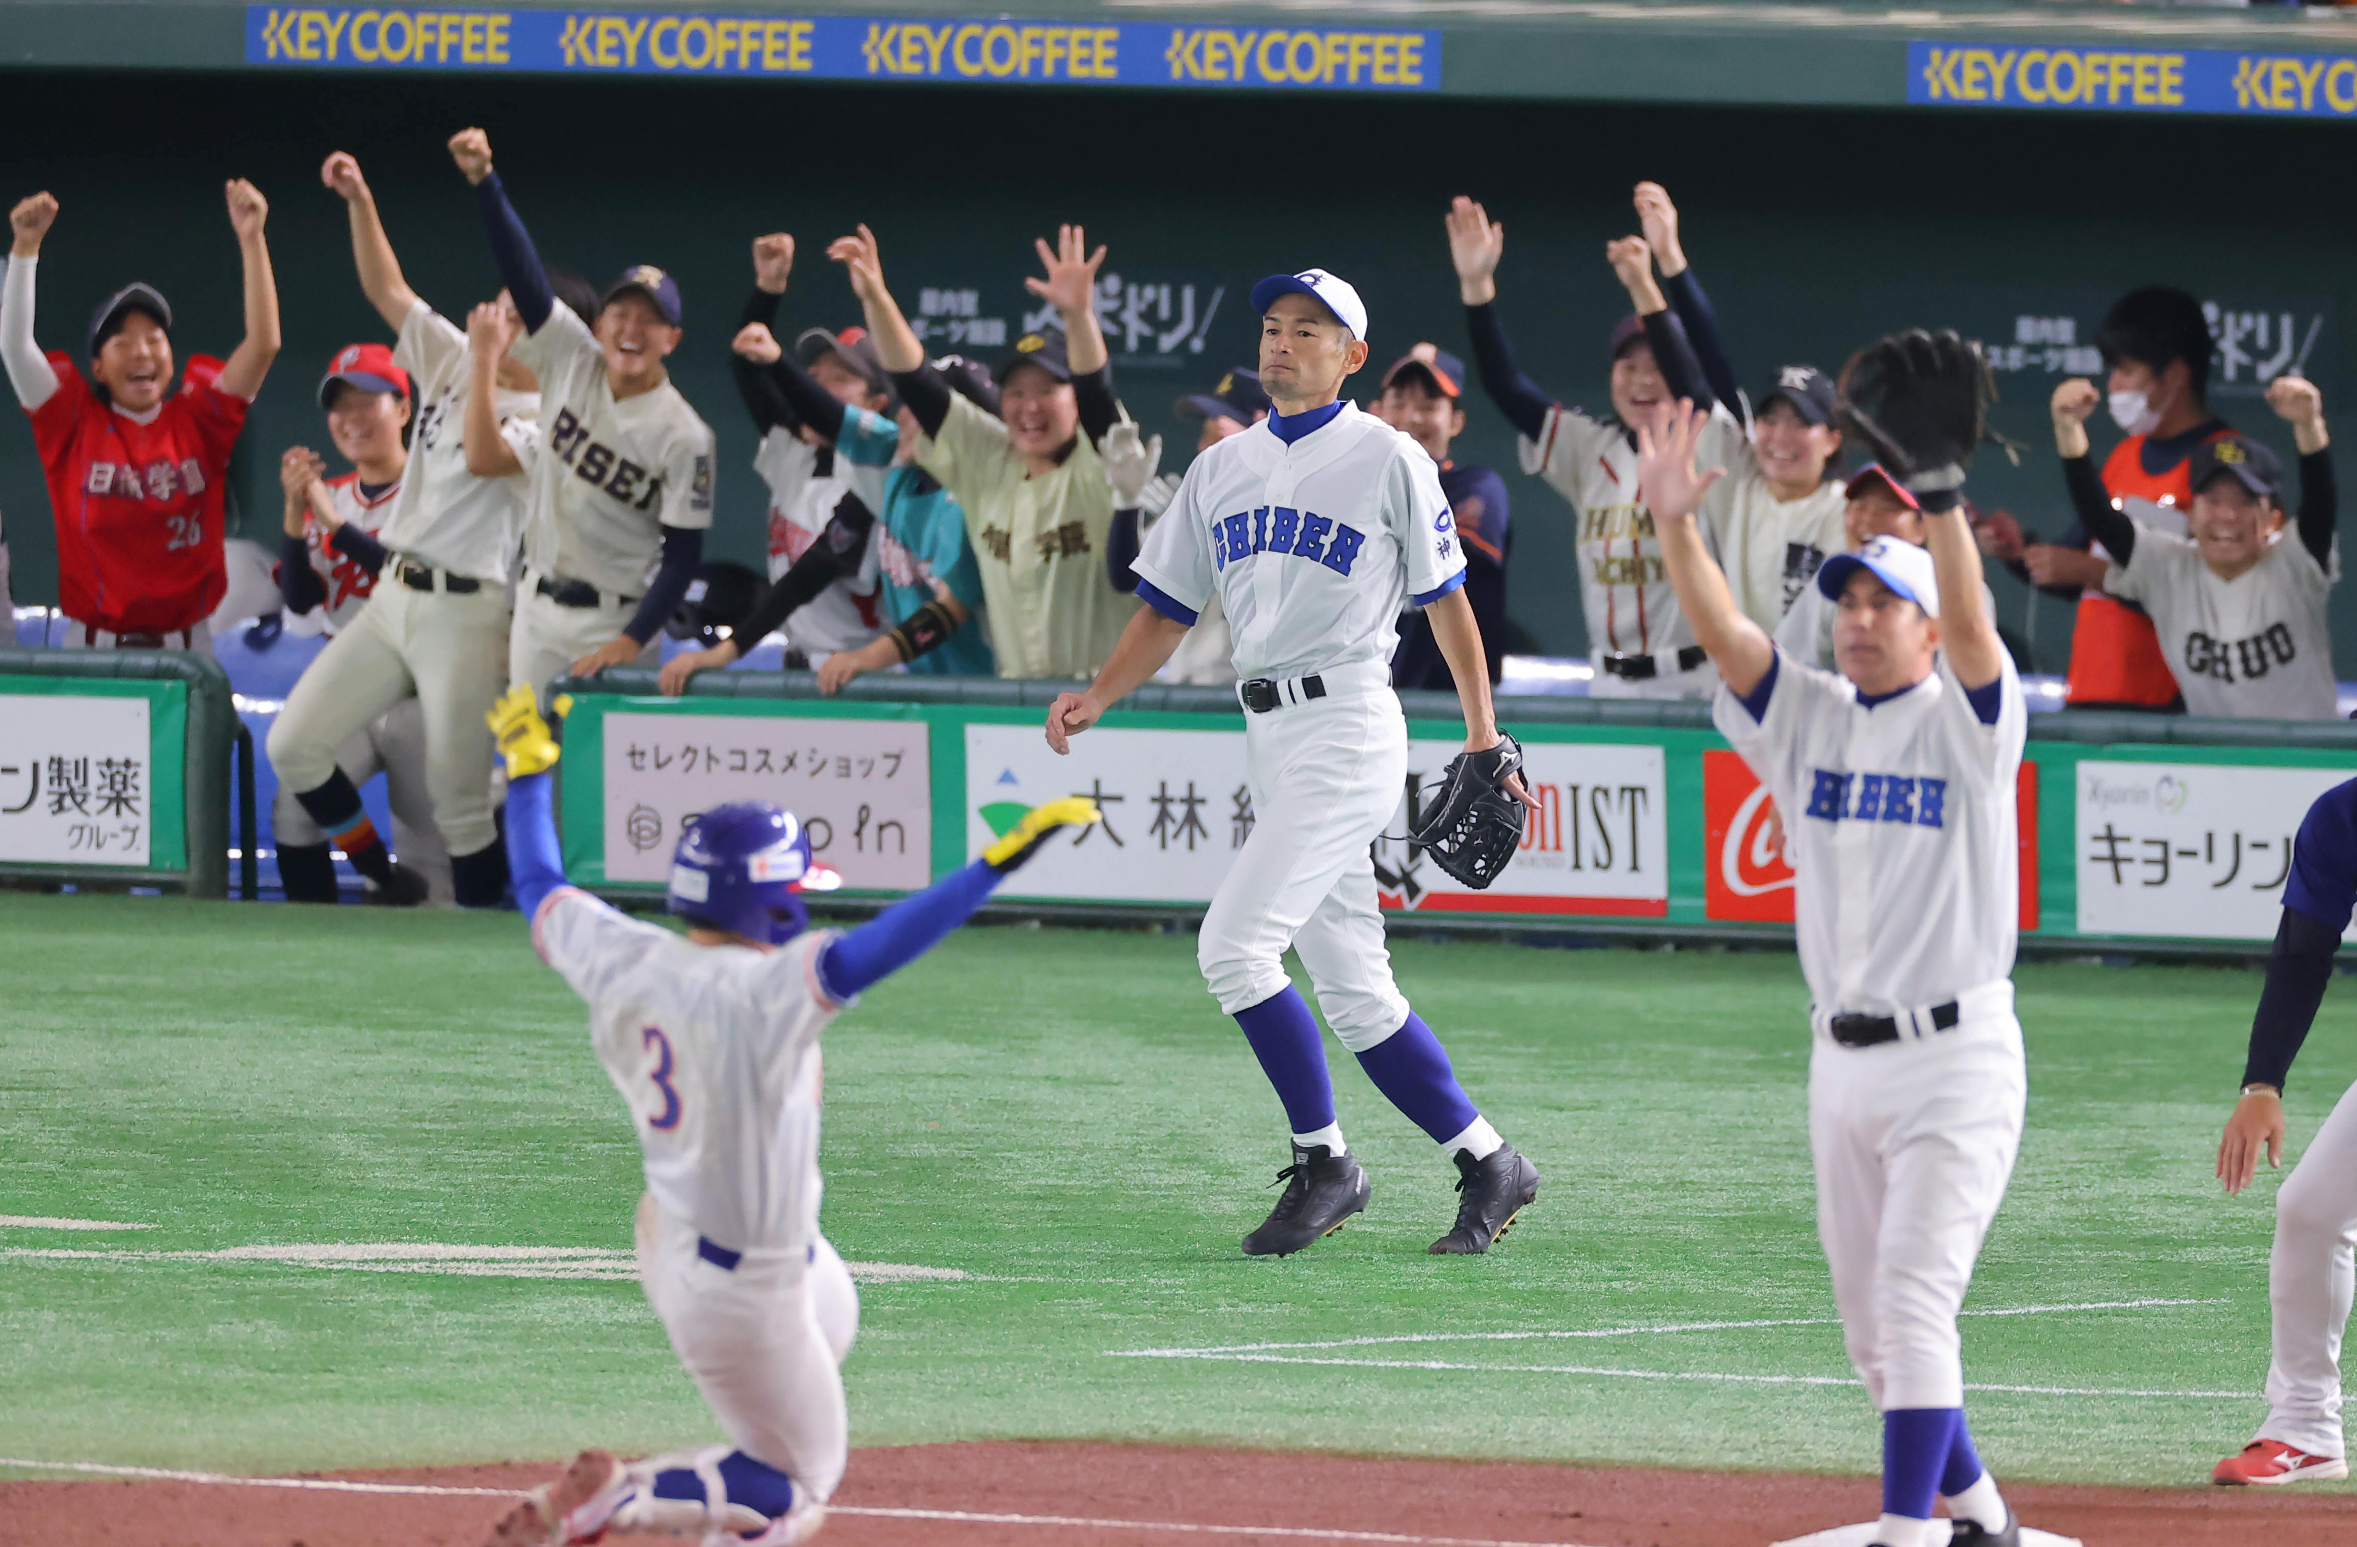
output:
{"label": "partly cropped player at right edge with navy sleeve and red shoe", "polygon": [[[2152,533],[2145,533],[2147,538]],[[2308,807],[2291,844],[2284,922],[2275,929],[2267,986],[2251,1019],[2242,1101],[2218,1141],[2225,1191],[2251,1186],[2258,1151],[2284,1156],[2284,1078],[2333,981],[2333,953],[2357,908],[2357,781]],[[2275,1358],[2258,1436],[2211,1472],[2225,1486],[2326,1483],[2350,1474],[2341,1431],[2341,1337],[2357,1288],[2357,1085],[2341,1097],[2284,1186],[2275,1193]]]}

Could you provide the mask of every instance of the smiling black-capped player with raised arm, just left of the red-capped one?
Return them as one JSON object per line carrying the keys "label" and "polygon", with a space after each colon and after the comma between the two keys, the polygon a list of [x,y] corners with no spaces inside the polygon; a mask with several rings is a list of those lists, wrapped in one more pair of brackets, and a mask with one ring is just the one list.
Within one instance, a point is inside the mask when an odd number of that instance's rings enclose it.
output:
{"label": "smiling black-capped player with raised arm, just left of the red-capped one", "polygon": [[[1638,311],[1666,304],[1702,368],[1699,380],[1678,380],[1678,356],[1664,356],[1671,394],[1704,408],[1725,403],[1751,420],[1749,443],[1711,491],[1704,521],[1718,540],[1735,604],[1772,634],[1813,594],[1817,566],[1829,554],[1860,547],[1846,531],[1848,483],[1834,469],[1841,455],[1834,380],[1815,366],[1782,366],[1758,408],[1747,410],[1718,337],[1718,314],[1678,238],[1678,205],[1662,184],[1640,182],[1636,212],[1659,274],[1659,290],[1648,292]],[[1921,535],[1912,540],[1921,542]]]}

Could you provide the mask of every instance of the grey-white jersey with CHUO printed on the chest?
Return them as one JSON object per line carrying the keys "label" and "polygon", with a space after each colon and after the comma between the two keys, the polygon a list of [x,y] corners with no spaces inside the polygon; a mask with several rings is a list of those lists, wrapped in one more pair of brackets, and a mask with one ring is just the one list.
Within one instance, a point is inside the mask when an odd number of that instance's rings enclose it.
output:
{"label": "grey-white jersey with CHUO printed on the chest", "polygon": [[2102,590],[2152,615],[2187,715],[2336,719],[2341,689],[2324,623],[2336,580],[2341,545],[2329,566],[2317,564],[2289,528],[2258,564],[2220,580],[2192,538],[2145,526],[2128,564],[2105,571]]}

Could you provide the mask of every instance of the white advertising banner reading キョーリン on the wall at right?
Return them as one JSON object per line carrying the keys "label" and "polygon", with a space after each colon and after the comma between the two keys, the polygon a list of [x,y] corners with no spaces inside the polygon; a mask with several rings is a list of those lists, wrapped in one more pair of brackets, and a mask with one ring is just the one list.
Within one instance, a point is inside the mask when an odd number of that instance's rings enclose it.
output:
{"label": "white advertising banner reading \u30ad\u30e7\u30fc\u30ea\u30f3 on the wall at right", "polygon": [[2308,807],[2348,769],[2079,764],[2079,932],[2270,941]]}

